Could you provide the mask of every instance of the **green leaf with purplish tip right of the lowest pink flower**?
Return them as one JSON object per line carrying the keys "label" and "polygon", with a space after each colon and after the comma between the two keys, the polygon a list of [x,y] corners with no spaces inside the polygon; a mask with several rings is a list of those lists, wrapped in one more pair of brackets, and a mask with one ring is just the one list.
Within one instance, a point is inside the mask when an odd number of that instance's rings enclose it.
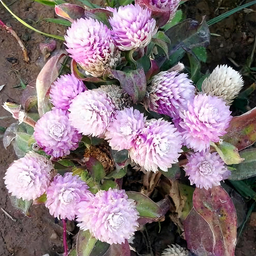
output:
{"label": "green leaf with purplish tip right of the lowest pink flower", "polygon": [[162,209],[146,195],[134,191],[127,191],[126,194],[128,198],[137,202],[136,207],[137,211],[140,213],[140,217],[154,219],[162,216]]}

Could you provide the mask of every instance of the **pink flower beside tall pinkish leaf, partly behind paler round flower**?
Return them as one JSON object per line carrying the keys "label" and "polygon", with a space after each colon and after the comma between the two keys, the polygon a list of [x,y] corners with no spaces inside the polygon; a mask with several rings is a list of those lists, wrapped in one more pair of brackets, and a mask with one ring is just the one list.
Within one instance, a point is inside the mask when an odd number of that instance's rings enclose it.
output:
{"label": "pink flower beside tall pinkish leaf, partly behind paler round flower", "polygon": [[84,86],[83,81],[71,75],[60,76],[52,85],[50,89],[50,102],[63,110],[67,110],[70,106],[72,99],[79,93],[84,92],[87,88]]}

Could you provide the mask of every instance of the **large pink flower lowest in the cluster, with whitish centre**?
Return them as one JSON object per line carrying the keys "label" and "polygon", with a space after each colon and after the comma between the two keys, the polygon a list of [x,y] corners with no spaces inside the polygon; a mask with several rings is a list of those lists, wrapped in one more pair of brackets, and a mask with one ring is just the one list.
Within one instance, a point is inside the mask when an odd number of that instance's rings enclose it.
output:
{"label": "large pink flower lowest in the cluster, with whitish centre", "polygon": [[81,202],[78,207],[77,221],[82,230],[102,242],[121,244],[131,238],[139,224],[136,203],[128,199],[125,190],[99,190],[92,202]]}

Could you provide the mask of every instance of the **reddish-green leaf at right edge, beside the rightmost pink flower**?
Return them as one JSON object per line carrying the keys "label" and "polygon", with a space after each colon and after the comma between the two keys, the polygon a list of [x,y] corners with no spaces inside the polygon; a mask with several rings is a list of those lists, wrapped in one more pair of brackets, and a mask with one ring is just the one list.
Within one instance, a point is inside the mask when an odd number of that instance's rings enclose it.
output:
{"label": "reddish-green leaf at right edge, beside the rightmost pink flower", "polygon": [[242,114],[235,116],[230,121],[227,134],[221,137],[235,145],[238,150],[247,148],[256,142],[256,108]]}

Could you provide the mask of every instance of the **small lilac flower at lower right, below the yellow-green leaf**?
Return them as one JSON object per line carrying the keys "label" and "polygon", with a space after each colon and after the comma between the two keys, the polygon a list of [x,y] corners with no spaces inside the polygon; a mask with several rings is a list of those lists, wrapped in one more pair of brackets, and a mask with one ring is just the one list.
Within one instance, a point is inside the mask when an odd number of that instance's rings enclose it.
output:
{"label": "small lilac flower at lower right, below the yellow-green leaf", "polygon": [[189,176],[190,183],[200,189],[219,186],[220,181],[230,175],[230,171],[216,152],[191,153],[187,159],[188,163],[184,166],[186,175]]}

